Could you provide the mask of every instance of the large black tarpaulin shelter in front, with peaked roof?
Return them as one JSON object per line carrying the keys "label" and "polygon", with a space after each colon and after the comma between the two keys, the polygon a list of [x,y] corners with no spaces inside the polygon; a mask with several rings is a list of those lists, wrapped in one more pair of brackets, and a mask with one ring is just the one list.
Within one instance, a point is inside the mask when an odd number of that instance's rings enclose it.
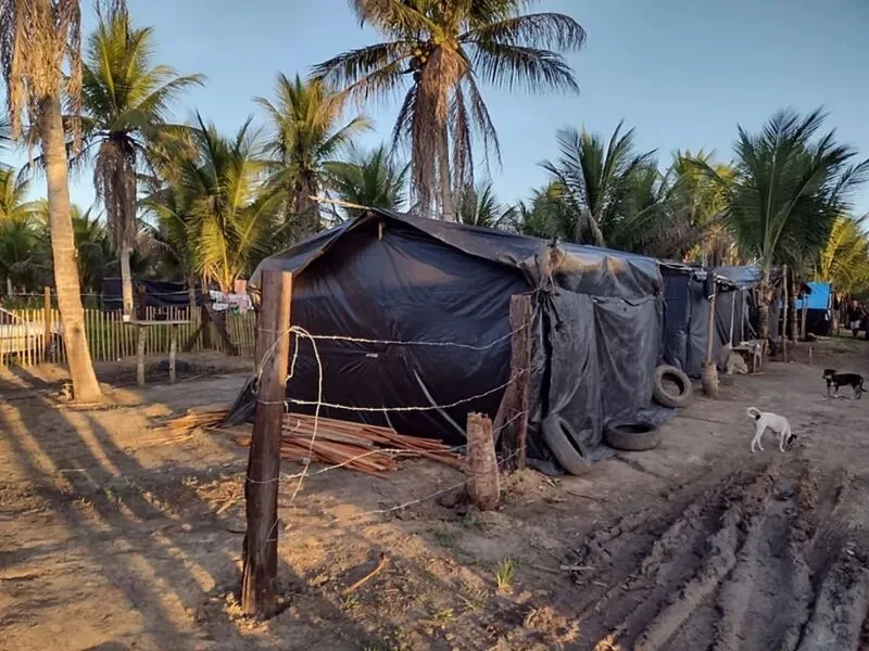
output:
{"label": "large black tarpaulin shelter in front, with peaked roof", "polygon": [[[250,286],[264,269],[290,271],[293,326],[379,342],[316,340],[322,403],[349,407],[320,413],[456,445],[469,411],[498,410],[509,379],[511,296],[530,294],[529,456],[547,459],[538,432],[551,413],[589,446],[607,419],[660,418],[651,403],[664,311],[657,260],[564,244],[550,276],[549,251],[537,238],[370,209],[267,258]],[[290,354],[288,398],[311,411],[299,400],[317,400],[313,344],[294,337]],[[393,407],[403,410],[378,411]],[[252,411],[248,387],[230,421]]]}

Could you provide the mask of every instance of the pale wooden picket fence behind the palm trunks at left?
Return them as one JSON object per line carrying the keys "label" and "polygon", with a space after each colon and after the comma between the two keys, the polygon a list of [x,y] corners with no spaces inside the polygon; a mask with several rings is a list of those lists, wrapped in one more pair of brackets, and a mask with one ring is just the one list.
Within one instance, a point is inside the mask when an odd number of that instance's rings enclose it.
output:
{"label": "pale wooden picket fence behind the palm trunks at left", "polygon": [[[21,321],[16,322],[18,328],[5,329],[14,336],[2,335],[4,323],[0,315],[0,367],[18,366],[33,367],[41,363],[66,362],[66,350],[64,349],[61,337],[54,334],[49,336],[48,345],[46,342],[46,323],[50,332],[61,332],[61,315],[58,308],[43,310],[36,309],[11,309],[9,310]],[[189,309],[185,307],[148,307],[146,319],[149,321],[174,321],[188,320],[178,327],[178,345],[184,344],[197,331],[200,323],[200,311],[194,310],[192,317]],[[7,319],[8,320],[8,319]],[[27,323],[27,329],[22,329],[21,323]],[[232,343],[238,347],[239,354],[243,357],[253,358],[253,342],[255,339],[256,318],[254,312],[227,314],[226,327]],[[13,324],[14,326],[14,324]],[[211,329],[211,345],[213,350],[226,353],[223,340],[218,336],[213,324]],[[168,355],[169,350],[169,326],[151,326],[147,329],[146,355]],[[95,362],[99,361],[119,361],[126,357],[136,355],[136,328],[124,323],[121,311],[102,311],[100,309],[85,310],[85,332],[87,333],[90,356]],[[26,333],[26,334],[25,334]],[[191,353],[203,350],[202,337],[198,337]]]}

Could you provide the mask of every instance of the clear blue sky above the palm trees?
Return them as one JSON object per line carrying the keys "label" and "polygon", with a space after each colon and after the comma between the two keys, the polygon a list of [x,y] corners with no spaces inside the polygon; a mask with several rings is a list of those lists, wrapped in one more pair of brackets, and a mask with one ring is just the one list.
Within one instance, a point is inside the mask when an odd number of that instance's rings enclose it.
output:
{"label": "clear blue sky above the palm trees", "polygon": [[[252,99],[272,94],[278,72],[304,75],[378,39],[347,0],[128,3],[138,25],[155,29],[155,62],[207,77],[177,118],[198,110],[227,133],[251,114],[263,122]],[[869,157],[866,0],[540,0],[536,11],[566,13],[585,28],[585,47],[568,55],[581,92],[483,90],[503,157],[491,178],[504,202],[546,180],[540,163],[557,156],[555,132],[568,125],[608,136],[624,119],[662,162],[700,148],[729,161],[738,125],[756,130],[779,108],[823,106],[840,141]],[[88,16],[85,27],[92,25]],[[394,102],[368,106],[376,132],[363,144],[388,139],[395,112]],[[92,203],[89,174],[74,181],[73,201]],[[869,212],[869,186],[855,195],[855,212]]]}

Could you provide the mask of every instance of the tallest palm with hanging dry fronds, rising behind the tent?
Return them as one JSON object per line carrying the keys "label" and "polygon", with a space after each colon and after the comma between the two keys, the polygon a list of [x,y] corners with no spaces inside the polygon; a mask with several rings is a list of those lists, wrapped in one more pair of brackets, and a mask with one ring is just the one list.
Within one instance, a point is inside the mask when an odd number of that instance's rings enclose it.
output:
{"label": "tallest palm with hanging dry fronds, rising behind the tent", "polygon": [[362,102],[406,88],[392,140],[395,148],[410,144],[414,200],[424,214],[434,204],[444,219],[455,218],[453,192],[473,183],[475,135],[487,158],[500,158],[479,79],[507,90],[578,90],[556,50],[579,50],[585,33],[564,14],[524,14],[527,0],[351,4],[383,42],[339,54],[314,74]]}

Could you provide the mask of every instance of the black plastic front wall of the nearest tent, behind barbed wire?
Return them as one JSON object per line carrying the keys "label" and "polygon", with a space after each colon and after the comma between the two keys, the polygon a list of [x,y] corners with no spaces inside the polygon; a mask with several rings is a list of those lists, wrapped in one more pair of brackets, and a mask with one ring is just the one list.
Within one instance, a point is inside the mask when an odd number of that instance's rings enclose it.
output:
{"label": "black plastic front wall of the nearest tent, behind barbed wire", "polygon": [[[509,298],[527,291],[528,283],[518,271],[427,238],[388,230],[378,240],[360,230],[345,234],[329,255],[314,260],[297,277],[292,323],[312,334],[444,343],[317,341],[323,401],[363,409],[446,405],[507,381]],[[313,346],[303,339],[295,341],[301,349],[288,397],[314,401],[318,371]],[[484,349],[448,345],[450,342]],[[322,413],[390,424],[405,434],[461,445],[466,414],[481,411],[493,416],[501,395],[495,392],[443,410],[385,414],[324,409]]]}

